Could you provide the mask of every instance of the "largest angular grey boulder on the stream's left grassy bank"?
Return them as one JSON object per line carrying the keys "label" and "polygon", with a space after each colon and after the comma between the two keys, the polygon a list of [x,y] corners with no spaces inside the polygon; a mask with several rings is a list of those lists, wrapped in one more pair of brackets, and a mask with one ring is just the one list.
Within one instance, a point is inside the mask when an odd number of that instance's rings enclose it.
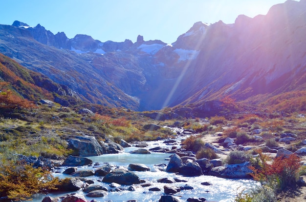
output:
{"label": "largest angular grey boulder on the stream's left grassy bank", "polygon": [[80,157],[99,156],[103,154],[102,146],[93,136],[77,136],[69,139],[68,148],[77,152]]}

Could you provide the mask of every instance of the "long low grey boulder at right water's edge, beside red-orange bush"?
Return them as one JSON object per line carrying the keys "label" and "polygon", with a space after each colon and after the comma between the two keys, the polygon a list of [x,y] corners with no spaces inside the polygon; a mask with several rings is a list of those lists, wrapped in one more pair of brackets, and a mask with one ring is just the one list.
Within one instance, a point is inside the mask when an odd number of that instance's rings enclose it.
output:
{"label": "long low grey boulder at right water's edge, beside red-orange bush", "polygon": [[225,166],[218,166],[211,169],[211,175],[223,178],[250,178],[250,173],[253,171],[249,168],[250,162],[243,162],[239,164],[227,164]]}

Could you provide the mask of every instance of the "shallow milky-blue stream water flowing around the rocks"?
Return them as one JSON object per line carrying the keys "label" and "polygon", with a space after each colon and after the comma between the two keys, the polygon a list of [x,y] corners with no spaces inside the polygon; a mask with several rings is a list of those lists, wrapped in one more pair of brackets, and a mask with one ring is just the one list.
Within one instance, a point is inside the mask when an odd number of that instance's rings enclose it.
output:
{"label": "shallow milky-blue stream water flowing around the rocks", "polygon": [[[172,147],[173,145],[165,145],[162,143],[163,141],[152,141],[148,142],[149,147],[153,148],[155,146],[162,147]],[[179,144],[179,141],[178,143]],[[177,145],[178,146],[178,145]],[[141,180],[145,180],[146,182],[150,182],[152,185],[150,187],[141,187],[136,185],[135,191],[121,191],[121,192],[108,192],[108,195],[105,197],[96,198],[97,201],[100,202],[126,202],[130,200],[136,200],[138,202],[158,202],[161,195],[164,194],[164,185],[166,183],[157,182],[158,179],[161,178],[179,178],[186,180],[188,182],[175,182],[172,184],[167,184],[171,186],[184,186],[190,185],[194,189],[192,190],[182,190],[175,194],[181,201],[186,201],[188,198],[205,198],[207,201],[215,201],[215,202],[233,202],[235,196],[241,191],[250,190],[252,187],[256,186],[258,183],[252,180],[230,180],[223,179],[214,176],[199,176],[199,177],[183,177],[175,175],[174,173],[167,173],[162,171],[160,166],[156,166],[156,164],[164,163],[168,164],[169,156],[171,154],[165,153],[151,153],[151,154],[130,154],[129,152],[137,149],[136,147],[126,148],[125,153],[121,154],[104,154],[101,156],[88,157],[94,163],[97,162],[100,165],[108,162],[116,166],[124,166],[128,167],[130,163],[143,163],[151,168],[151,171],[146,172],[135,172],[136,175],[139,176]],[[95,169],[97,166],[82,166],[79,167],[78,170],[92,168]],[[69,175],[64,175],[62,172],[67,167],[61,167],[57,169],[57,172],[54,173],[54,176],[59,178],[66,178]],[[164,169],[166,166],[163,167]],[[98,177],[91,176],[88,179],[93,180],[94,184],[100,184],[109,188],[108,183],[98,182]],[[201,182],[210,182],[212,185],[202,185]],[[128,188],[129,186],[121,186],[124,188]],[[149,191],[149,188],[158,187],[161,191]],[[73,193],[78,193],[82,195],[86,195],[86,193],[82,191],[76,191]],[[64,196],[67,193],[55,193],[49,194],[52,197]],[[44,196],[37,195],[34,199],[34,202],[41,202]],[[88,201],[91,201],[93,198],[86,197]]]}

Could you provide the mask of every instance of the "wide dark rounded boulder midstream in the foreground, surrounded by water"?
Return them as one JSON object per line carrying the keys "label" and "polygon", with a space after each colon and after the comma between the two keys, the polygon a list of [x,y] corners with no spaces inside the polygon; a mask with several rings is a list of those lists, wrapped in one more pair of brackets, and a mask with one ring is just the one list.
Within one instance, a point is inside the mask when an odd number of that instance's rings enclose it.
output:
{"label": "wide dark rounded boulder midstream in the foreground, surrounded by water", "polygon": [[116,182],[118,184],[131,185],[131,184],[139,184],[141,183],[139,177],[131,171],[127,171],[124,169],[115,169],[109,174],[107,174],[102,182]]}

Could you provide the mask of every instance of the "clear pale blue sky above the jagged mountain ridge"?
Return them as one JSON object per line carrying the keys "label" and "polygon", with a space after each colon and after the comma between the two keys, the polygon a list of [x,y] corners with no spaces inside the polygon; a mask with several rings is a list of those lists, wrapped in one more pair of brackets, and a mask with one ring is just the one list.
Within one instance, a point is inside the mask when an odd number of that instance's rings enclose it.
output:
{"label": "clear pale blue sky above the jagged mountain ridge", "polygon": [[53,34],[65,32],[105,42],[162,40],[173,43],[195,22],[231,24],[239,15],[265,15],[285,0],[0,0],[0,24],[15,20],[41,24]]}

